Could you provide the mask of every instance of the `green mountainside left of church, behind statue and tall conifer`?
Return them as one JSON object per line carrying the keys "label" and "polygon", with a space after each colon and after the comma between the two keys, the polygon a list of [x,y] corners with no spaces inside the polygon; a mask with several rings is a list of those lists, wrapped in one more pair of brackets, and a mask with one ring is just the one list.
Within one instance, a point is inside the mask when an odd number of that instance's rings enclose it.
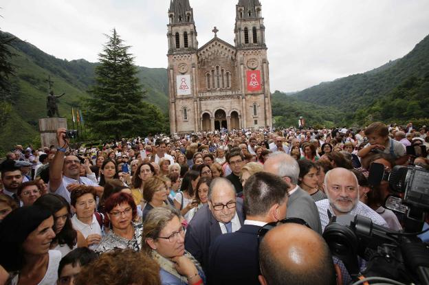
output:
{"label": "green mountainside left of church, behind statue and tall conifer", "polygon": [[[11,80],[12,93],[8,94],[8,100],[0,100],[0,157],[14,144],[38,141],[39,118],[46,117],[48,76],[54,82],[56,95],[66,93],[60,99],[58,109],[61,116],[69,119],[72,128],[72,106],[79,108],[82,99],[89,96],[87,90],[93,84],[94,68],[97,65],[83,59],[67,61],[55,58],[19,38],[14,41],[12,52],[16,55],[12,63],[17,68],[16,76]],[[146,91],[144,101],[155,104],[167,114],[166,69],[138,69],[138,78]]]}

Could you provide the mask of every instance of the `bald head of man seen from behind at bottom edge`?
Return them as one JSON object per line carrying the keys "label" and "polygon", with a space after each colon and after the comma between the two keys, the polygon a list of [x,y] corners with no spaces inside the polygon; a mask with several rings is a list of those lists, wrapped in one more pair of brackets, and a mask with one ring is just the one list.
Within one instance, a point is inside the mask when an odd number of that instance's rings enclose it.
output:
{"label": "bald head of man seen from behind at bottom edge", "polygon": [[268,231],[259,246],[261,285],[335,285],[336,271],[325,240],[295,223]]}

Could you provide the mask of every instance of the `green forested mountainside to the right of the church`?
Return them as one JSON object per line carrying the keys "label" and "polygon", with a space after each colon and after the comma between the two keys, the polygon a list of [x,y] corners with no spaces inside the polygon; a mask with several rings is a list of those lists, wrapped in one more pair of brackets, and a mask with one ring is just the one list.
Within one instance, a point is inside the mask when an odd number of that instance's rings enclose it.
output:
{"label": "green forested mountainside to the right of the church", "polygon": [[[287,101],[299,107],[298,113],[308,113],[307,122],[327,126],[331,122],[363,125],[377,120],[404,123],[429,118],[429,36],[403,58],[382,67],[293,95],[274,93],[272,101],[274,116],[283,117],[283,121],[291,116],[275,106]],[[332,118],[332,114],[336,116]]]}

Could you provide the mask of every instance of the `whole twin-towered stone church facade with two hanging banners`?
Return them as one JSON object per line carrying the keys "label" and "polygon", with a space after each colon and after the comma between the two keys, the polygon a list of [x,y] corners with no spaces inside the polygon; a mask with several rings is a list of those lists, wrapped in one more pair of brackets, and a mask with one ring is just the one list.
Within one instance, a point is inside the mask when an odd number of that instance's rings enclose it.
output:
{"label": "whole twin-towered stone church facade with two hanging banners", "polygon": [[265,26],[259,0],[236,5],[234,45],[217,37],[198,47],[189,0],[168,10],[171,133],[272,126]]}

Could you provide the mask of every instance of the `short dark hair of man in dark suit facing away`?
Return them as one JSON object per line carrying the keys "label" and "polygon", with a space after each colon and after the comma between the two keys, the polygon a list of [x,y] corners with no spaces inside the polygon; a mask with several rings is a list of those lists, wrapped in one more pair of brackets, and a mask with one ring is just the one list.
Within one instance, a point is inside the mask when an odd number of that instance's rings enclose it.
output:
{"label": "short dark hair of man in dark suit facing away", "polygon": [[272,205],[285,201],[287,188],[287,183],[281,177],[268,172],[256,172],[244,185],[245,214],[250,216],[267,214]]}

